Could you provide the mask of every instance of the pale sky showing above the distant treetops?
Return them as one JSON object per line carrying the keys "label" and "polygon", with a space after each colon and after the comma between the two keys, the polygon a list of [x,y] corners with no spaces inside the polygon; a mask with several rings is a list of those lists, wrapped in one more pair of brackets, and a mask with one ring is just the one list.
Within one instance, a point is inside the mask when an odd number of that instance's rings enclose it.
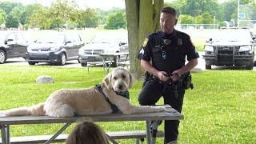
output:
{"label": "pale sky showing above the distant treetops", "polygon": [[[50,6],[55,0],[0,0],[10,1],[10,2],[21,2],[23,5],[28,5],[31,3],[40,3],[42,6]],[[125,0],[75,0],[78,6],[84,8],[88,6],[90,8],[100,8],[102,10],[111,10],[113,7],[125,8]],[[165,2],[171,2],[172,0],[165,0]],[[224,2],[226,0],[218,0],[219,2]]]}

